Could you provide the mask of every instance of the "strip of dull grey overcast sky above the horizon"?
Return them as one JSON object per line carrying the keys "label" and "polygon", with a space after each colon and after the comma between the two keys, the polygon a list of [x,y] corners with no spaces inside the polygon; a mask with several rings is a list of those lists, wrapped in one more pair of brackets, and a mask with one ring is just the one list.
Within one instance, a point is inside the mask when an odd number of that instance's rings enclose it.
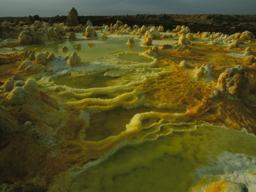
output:
{"label": "strip of dull grey overcast sky above the horizon", "polygon": [[67,15],[243,14],[256,15],[256,0],[0,0],[0,17]]}

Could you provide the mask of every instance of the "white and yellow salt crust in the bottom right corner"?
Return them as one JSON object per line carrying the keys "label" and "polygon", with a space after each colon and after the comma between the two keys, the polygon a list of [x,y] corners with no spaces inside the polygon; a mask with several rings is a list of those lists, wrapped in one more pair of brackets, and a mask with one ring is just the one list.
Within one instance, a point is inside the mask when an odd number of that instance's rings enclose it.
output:
{"label": "white and yellow salt crust in the bottom right corner", "polygon": [[198,170],[198,175],[203,177],[191,191],[255,191],[255,160],[254,156],[223,152],[212,166]]}

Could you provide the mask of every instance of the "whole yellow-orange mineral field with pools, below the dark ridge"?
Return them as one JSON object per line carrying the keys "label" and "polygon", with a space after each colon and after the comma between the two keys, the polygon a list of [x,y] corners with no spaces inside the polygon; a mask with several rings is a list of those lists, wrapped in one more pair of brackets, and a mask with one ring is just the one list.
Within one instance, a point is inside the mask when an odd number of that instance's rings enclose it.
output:
{"label": "whole yellow-orange mineral field with pools, below the dark ridge", "polygon": [[75,10],[15,30],[0,42],[2,191],[256,191],[253,33],[78,26]]}

